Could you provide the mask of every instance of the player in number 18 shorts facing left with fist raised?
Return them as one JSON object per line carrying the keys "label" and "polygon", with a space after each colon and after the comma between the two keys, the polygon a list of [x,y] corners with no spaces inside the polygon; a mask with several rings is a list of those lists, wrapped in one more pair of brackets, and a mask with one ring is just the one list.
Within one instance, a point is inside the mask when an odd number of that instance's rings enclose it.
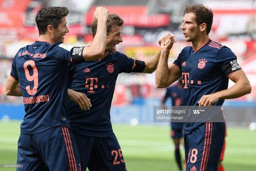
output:
{"label": "player in number 18 shorts facing left with fist raised", "polygon": [[[156,72],[157,87],[167,87],[182,76],[182,106],[222,106],[251,92],[251,85],[232,51],[209,39],[213,13],[204,5],[186,6],[181,30],[184,47],[168,67],[167,58],[174,36],[161,41],[161,55]],[[228,88],[228,80],[235,84]],[[227,89],[228,88],[228,89]],[[217,170],[224,143],[225,123],[185,123],[185,157],[187,171]]]}

